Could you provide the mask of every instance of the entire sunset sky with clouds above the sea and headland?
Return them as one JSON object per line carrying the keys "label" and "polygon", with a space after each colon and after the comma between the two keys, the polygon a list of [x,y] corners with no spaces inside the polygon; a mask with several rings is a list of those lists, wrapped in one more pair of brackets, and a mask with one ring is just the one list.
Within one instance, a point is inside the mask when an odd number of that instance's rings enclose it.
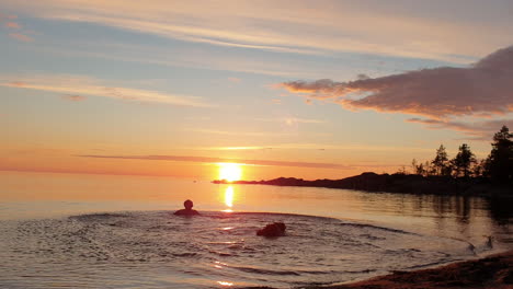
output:
{"label": "entire sunset sky with clouds above the sea and headland", "polygon": [[341,178],[513,128],[513,2],[0,0],[0,170]]}

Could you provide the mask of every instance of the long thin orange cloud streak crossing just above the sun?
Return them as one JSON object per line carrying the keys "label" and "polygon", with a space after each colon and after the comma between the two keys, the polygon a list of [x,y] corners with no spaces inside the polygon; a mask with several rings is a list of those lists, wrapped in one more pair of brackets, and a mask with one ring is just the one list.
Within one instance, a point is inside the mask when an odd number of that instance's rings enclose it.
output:
{"label": "long thin orange cloud streak crossing just above the sun", "polygon": [[98,159],[119,159],[119,160],[201,162],[201,163],[240,163],[240,164],[254,164],[254,165],[298,166],[298,167],[339,169],[339,170],[353,169],[351,166],[337,164],[337,163],[241,160],[241,159],[224,159],[224,158],[189,157],[189,155],[93,155],[93,154],[84,154],[84,155],[77,155],[77,157],[98,158]]}

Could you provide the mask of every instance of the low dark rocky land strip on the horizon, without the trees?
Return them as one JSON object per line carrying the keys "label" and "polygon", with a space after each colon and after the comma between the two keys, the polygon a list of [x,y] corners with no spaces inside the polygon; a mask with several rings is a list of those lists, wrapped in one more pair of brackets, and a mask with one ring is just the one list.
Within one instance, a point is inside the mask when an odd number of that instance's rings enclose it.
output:
{"label": "low dark rocky land strip on the horizon, without the trees", "polygon": [[269,181],[213,181],[214,184],[243,184],[272,186],[300,186],[358,189],[367,192],[433,194],[433,195],[468,195],[468,196],[511,196],[513,187],[495,185],[485,177],[449,177],[423,176],[417,174],[376,174],[372,172],[341,180],[306,181],[296,177],[278,177]]}

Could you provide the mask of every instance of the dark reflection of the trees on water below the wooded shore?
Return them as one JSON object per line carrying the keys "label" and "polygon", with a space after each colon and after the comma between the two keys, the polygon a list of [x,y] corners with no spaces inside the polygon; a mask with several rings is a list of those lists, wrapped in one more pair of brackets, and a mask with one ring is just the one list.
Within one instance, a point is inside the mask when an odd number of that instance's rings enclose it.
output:
{"label": "dark reflection of the trees on water below the wooded shore", "polygon": [[414,223],[424,222],[422,226],[435,235],[476,244],[488,236],[498,243],[513,243],[513,198],[389,193],[362,193],[357,198],[374,213],[415,218]]}

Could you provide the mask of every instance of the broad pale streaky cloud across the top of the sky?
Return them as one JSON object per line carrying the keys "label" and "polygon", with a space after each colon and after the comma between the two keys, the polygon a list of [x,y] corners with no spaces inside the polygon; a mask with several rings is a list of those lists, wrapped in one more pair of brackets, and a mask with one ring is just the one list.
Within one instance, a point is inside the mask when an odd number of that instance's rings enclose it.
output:
{"label": "broad pale streaky cloud across the top of the sky", "polygon": [[[299,0],[224,1],[220,9],[218,1],[198,5],[167,0],[0,0],[10,11],[42,19],[284,53],[354,51],[461,62],[503,46],[510,38],[508,2],[433,1],[419,1],[415,9],[380,1],[326,1],[319,5]],[[472,33],[465,33],[468,31]]]}

